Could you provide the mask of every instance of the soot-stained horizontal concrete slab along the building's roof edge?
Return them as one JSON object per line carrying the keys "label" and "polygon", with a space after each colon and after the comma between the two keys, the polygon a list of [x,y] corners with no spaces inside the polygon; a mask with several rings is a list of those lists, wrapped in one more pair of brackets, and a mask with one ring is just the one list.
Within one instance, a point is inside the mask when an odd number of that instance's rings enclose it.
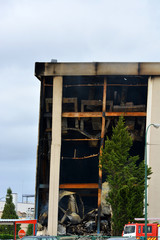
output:
{"label": "soot-stained horizontal concrete slab along the building's roof edge", "polygon": [[53,63],[36,62],[35,75],[41,80],[43,76],[103,76],[103,75],[160,75],[160,63]]}

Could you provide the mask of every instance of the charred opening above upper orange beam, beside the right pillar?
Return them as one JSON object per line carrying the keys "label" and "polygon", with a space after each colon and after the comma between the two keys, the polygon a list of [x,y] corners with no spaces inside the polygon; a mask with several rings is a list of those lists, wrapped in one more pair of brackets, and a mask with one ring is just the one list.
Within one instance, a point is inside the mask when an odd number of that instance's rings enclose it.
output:
{"label": "charred opening above upper orange beam, beside the right pillar", "polygon": [[113,101],[113,111],[144,112],[147,99],[147,78],[110,77],[107,99]]}

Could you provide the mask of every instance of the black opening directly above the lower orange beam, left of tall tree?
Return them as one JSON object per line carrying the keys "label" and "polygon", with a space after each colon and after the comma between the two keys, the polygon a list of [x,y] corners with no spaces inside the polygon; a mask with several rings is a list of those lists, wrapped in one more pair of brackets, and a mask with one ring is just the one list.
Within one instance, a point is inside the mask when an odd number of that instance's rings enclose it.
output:
{"label": "black opening directly above the lower orange beam, left of tall tree", "polygon": [[98,182],[98,153],[89,143],[64,141],[60,183]]}

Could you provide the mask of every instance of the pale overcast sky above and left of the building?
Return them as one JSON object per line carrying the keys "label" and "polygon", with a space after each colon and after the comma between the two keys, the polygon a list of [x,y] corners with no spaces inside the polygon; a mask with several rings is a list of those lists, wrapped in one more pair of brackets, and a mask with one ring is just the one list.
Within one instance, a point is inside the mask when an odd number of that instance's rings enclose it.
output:
{"label": "pale overcast sky above and left of the building", "polygon": [[159,62],[159,0],[0,0],[0,198],[34,194],[35,62]]}

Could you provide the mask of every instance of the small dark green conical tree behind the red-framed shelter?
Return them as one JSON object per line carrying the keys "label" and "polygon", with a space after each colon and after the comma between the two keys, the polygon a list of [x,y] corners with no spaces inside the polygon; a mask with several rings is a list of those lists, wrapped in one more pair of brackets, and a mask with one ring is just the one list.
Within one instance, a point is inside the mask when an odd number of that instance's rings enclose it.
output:
{"label": "small dark green conical tree behind the red-framed shelter", "polygon": [[[7,189],[6,203],[2,212],[2,219],[18,219],[18,215],[15,211],[15,205],[12,202],[12,190],[11,188]],[[17,225],[17,232],[19,231],[20,226]],[[5,225],[0,226],[0,233],[14,234],[14,227]]]}

